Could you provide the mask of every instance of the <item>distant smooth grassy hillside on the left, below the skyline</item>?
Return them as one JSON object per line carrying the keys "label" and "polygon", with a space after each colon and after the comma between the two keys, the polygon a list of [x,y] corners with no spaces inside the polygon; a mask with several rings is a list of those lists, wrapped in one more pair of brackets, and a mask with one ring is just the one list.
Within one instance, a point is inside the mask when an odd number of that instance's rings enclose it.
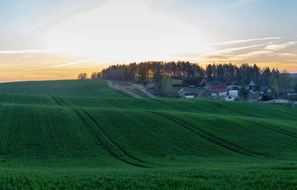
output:
{"label": "distant smooth grassy hillside on the left, below the skyline", "polygon": [[131,97],[99,80],[58,80],[0,83],[1,93],[78,97]]}

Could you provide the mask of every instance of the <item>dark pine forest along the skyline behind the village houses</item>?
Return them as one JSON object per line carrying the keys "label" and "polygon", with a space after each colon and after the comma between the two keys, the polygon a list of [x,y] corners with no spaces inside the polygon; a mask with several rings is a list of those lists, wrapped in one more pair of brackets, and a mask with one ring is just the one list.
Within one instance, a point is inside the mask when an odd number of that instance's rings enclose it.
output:
{"label": "dark pine forest along the skyline behind the village houses", "polygon": [[275,89],[297,89],[296,78],[290,76],[287,70],[279,71],[278,68],[260,68],[243,63],[207,64],[204,67],[189,61],[146,61],[140,63],[110,65],[91,75],[92,79],[106,79],[117,81],[131,81],[142,83],[152,79],[156,84],[161,84],[164,75],[172,79],[181,79],[187,84],[198,84],[206,79],[207,83],[213,82],[226,84],[237,81],[239,85],[246,86],[252,80],[256,85],[268,86]]}

